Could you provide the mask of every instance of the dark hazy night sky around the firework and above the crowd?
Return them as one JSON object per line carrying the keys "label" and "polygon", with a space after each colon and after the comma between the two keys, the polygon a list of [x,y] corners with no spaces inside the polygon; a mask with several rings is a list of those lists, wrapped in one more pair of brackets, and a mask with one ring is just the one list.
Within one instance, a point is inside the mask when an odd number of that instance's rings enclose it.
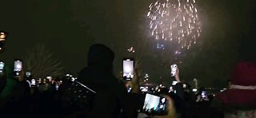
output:
{"label": "dark hazy night sky around the firework and above the crowd", "polygon": [[[103,43],[116,53],[114,65],[118,72],[122,57],[131,56],[126,49],[134,46],[137,51],[133,57],[141,58],[142,73],[149,73],[154,82],[170,83],[172,57],[168,57],[169,52],[156,51],[147,32],[150,2],[154,1],[2,0],[0,30],[10,35],[0,57],[11,64],[14,58],[26,56],[27,49],[44,43],[62,61],[66,72],[77,73],[86,66],[90,45]],[[189,83],[196,77],[204,86],[224,86],[239,55],[253,50],[255,2],[197,2],[202,37],[198,45],[182,53],[181,77]]]}

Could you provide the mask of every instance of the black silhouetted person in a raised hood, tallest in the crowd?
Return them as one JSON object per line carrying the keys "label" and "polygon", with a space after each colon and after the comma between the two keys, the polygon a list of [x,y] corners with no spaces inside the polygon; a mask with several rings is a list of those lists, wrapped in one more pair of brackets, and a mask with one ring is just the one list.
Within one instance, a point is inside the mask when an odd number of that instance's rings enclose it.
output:
{"label": "black silhouetted person in a raised hood, tallest in the crowd", "polygon": [[[95,92],[90,117],[136,117],[138,99],[113,74],[114,52],[102,44],[90,47],[88,66],[78,79]],[[131,104],[132,103],[132,104]]]}

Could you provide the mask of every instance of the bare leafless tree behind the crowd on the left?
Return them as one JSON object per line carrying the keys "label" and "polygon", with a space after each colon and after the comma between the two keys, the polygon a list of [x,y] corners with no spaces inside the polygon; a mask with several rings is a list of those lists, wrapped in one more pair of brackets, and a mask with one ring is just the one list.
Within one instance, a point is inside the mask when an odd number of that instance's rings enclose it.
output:
{"label": "bare leafless tree behind the crowd on the left", "polygon": [[53,53],[44,44],[35,45],[24,57],[25,69],[30,70],[33,77],[57,77],[62,75],[62,63],[54,58]]}

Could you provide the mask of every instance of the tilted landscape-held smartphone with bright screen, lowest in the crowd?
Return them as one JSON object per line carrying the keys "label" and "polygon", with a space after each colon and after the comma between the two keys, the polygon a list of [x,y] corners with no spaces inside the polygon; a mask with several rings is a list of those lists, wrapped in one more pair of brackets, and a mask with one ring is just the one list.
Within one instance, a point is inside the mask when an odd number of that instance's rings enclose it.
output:
{"label": "tilted landscape-held smartphone with bright screen, lowest in the crowd", "polygon": [[167,100],[165,97],[154,95],[152,93],[146,93],[141,112],[153,116],[166,115],[166,104]]}

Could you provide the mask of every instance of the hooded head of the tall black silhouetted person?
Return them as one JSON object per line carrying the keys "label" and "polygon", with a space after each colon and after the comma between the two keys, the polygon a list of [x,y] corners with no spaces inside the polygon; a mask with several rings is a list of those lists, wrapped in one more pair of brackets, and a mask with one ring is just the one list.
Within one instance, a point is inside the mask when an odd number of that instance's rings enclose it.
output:
{"label": "hooded head of the tall black silhouetted person", "polygon": [[88,65],[113,69],[114,52],[106,45],[94,44],[88,53]]}

